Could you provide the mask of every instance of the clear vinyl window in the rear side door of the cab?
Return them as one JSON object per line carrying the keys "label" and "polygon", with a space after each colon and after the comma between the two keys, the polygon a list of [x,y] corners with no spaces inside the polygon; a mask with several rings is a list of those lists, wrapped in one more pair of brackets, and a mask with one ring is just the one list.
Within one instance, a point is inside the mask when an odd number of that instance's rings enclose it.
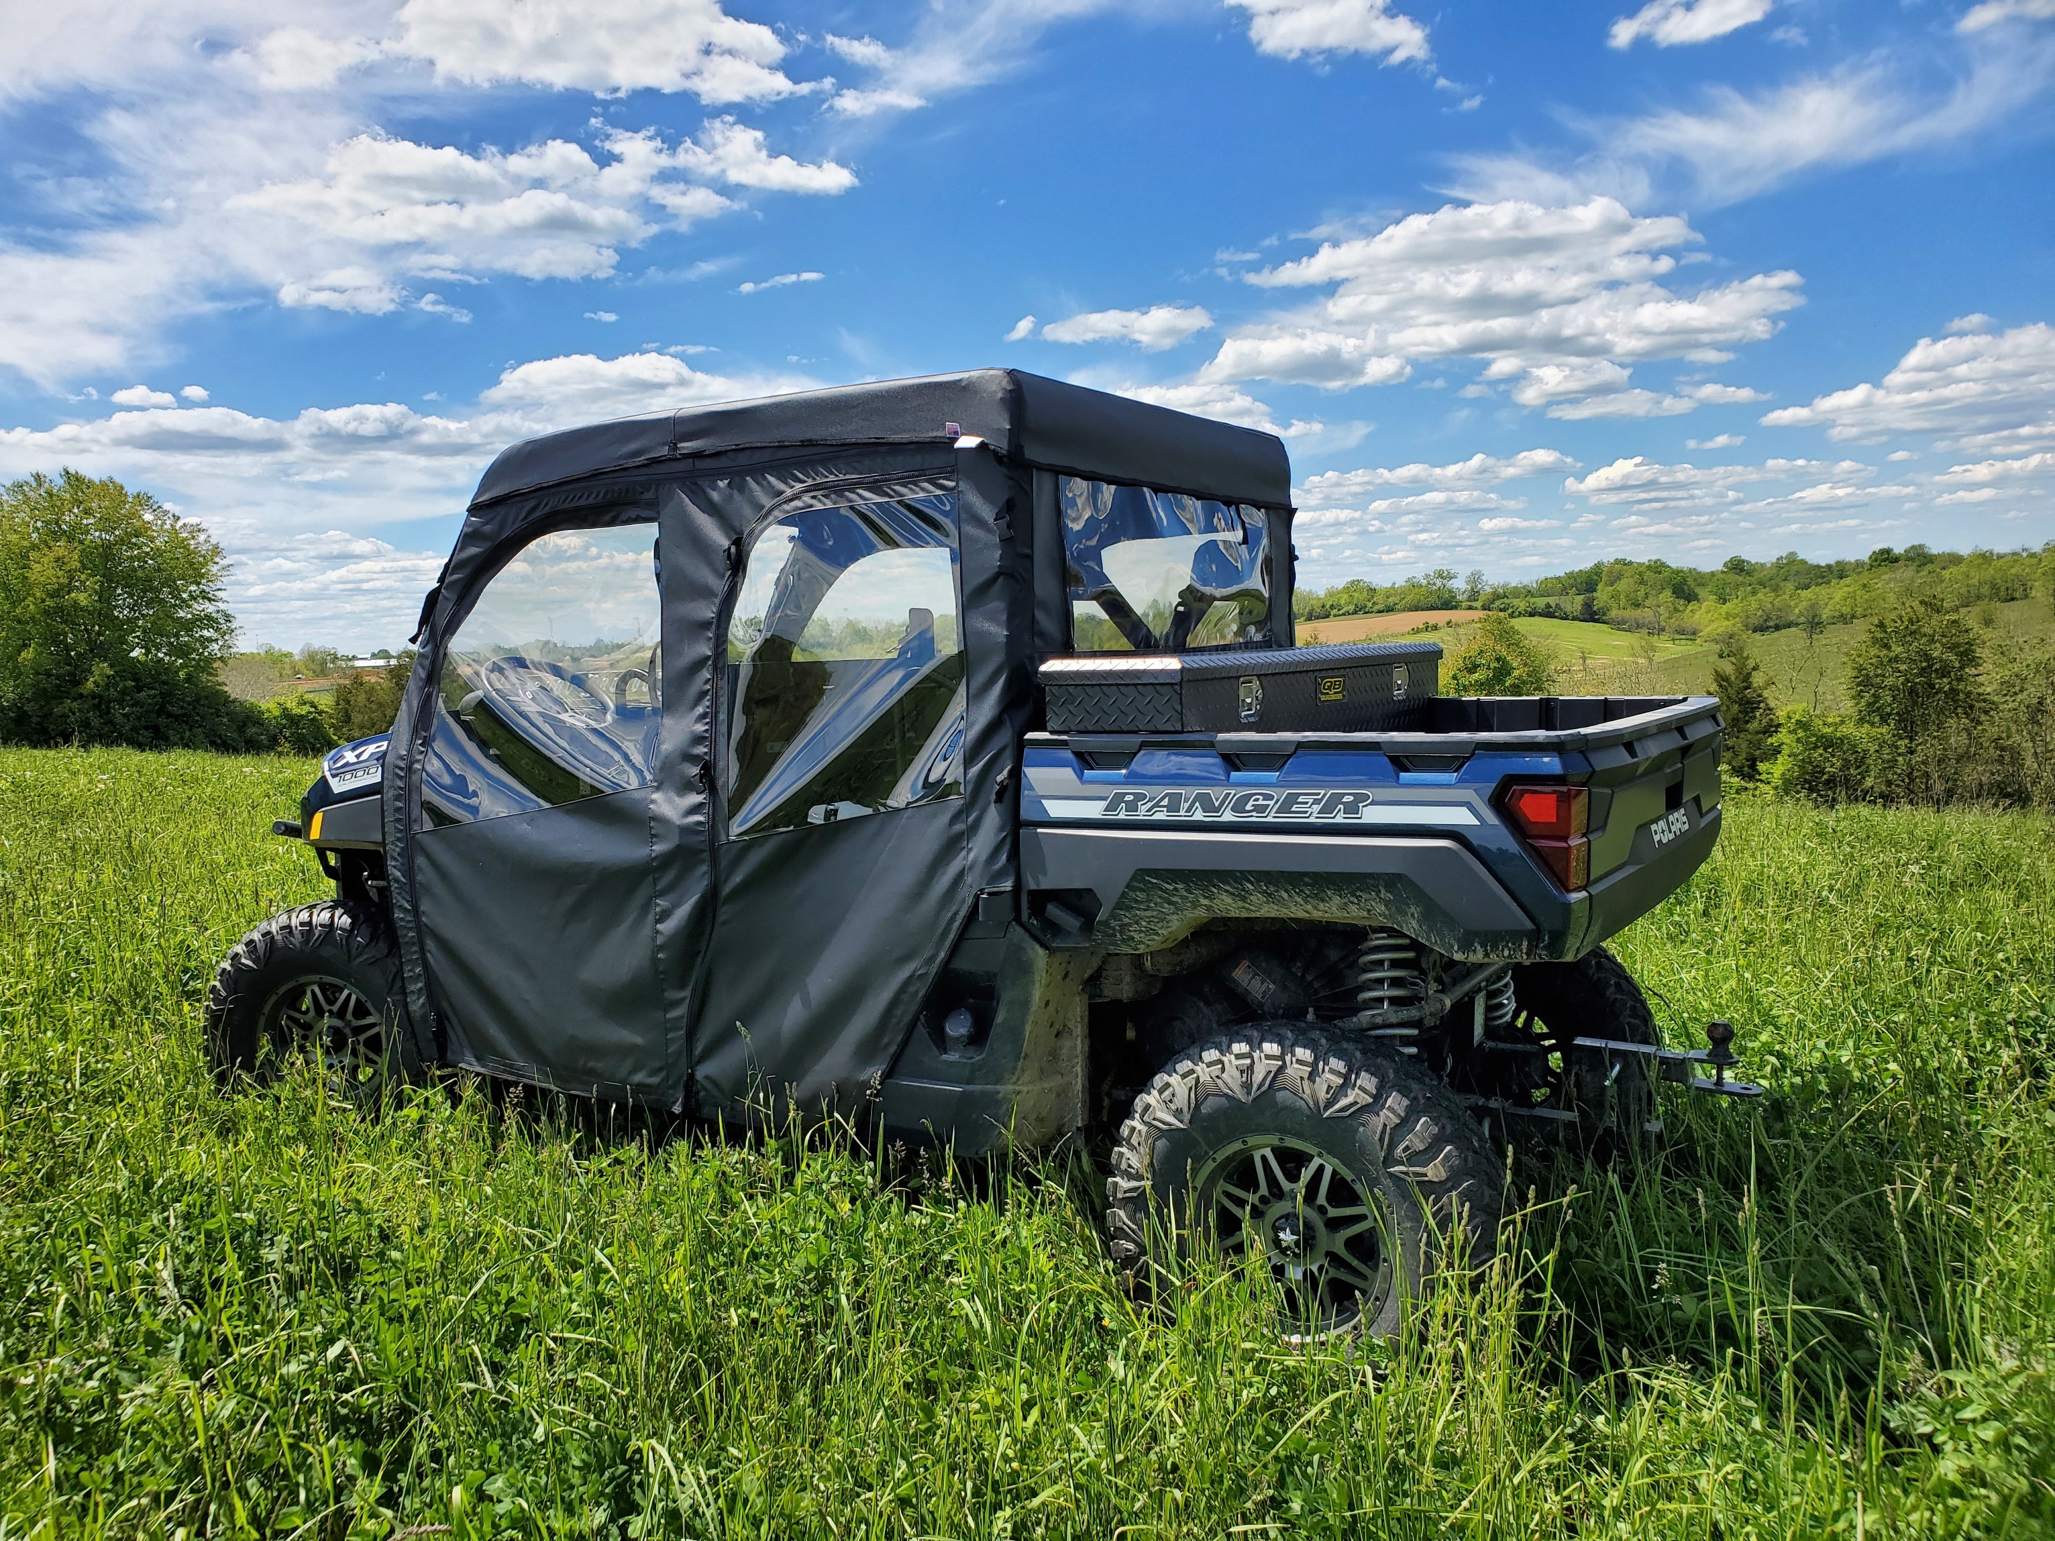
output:
{"label": "clear vinyl window in the rear side door of the cab", "polygon": [[962,797],[956,594],[954,493],[756,534],[727,627],[730,834]]}

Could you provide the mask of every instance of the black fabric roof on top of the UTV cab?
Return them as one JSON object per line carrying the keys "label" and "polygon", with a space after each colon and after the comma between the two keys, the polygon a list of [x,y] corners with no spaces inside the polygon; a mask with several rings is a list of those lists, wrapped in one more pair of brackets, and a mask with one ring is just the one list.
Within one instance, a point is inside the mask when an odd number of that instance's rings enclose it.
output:
{"label": "black fabric roof on top of the UTV cab", "polygon": [[799,390],[571,427],[503,450],[473,508],[600,471],[725,450],[945,442],[945,423],[1011,458],[1237,503],[1291,503],[1276,434],[1019,370]]}

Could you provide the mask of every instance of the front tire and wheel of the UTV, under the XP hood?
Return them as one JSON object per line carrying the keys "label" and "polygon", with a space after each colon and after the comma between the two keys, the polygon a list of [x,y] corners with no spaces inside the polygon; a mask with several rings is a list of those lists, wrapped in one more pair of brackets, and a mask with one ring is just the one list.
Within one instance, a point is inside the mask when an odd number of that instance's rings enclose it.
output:
{"label": "front tire and wheel of the UTV, under the XP hood", "polygon": [[333,1095],[376,1114],[421,1077],[393,927],[358,904],[302,904],[242,937],[214,974],[203,1023],[222,1087],[267,1085],[316,1058]]}

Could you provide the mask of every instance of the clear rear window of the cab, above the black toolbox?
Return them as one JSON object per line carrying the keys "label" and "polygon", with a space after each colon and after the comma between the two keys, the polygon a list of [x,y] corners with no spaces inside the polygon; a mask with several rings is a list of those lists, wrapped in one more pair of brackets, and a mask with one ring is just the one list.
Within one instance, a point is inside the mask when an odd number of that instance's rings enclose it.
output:
{"label": "clear rear window of the cab, above the black toolbox", "polygon": [[1083,477],[1058,497],[1079,653],[1270,643],[1262,510]]}

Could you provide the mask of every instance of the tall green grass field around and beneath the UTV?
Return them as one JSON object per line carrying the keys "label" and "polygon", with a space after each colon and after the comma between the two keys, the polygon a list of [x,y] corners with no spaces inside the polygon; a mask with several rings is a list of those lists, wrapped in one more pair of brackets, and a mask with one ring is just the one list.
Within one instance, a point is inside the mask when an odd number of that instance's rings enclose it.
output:
{"label": "tall green grass field around and beneath the UTV", "polygon": [[1619,939],[1638,1173],[1517,1171],[1389,1348],[1175,1319],[1083,1159],[594,1144],[220,1097],[220,953],[314,898],[292,760],[0,752],[0,1537],[2047,1537],[2055,832],[1728,803]]}

